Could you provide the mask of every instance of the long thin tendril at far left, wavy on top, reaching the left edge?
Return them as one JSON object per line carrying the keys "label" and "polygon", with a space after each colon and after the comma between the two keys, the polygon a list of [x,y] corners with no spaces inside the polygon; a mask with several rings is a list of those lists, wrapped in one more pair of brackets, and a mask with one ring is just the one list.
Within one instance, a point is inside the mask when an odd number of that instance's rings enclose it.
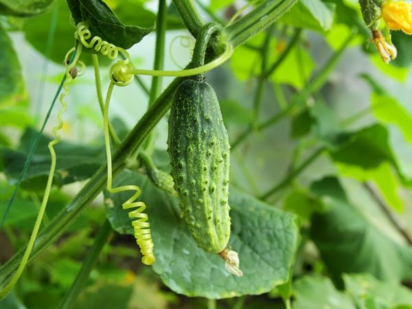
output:
{"label": "long thin tendril at far left, wavy on top, reaching the left edge", "polygon": [[[27,261],[29,260],[30,253],[32,253],[32,249],[33,249],[33,246],[34,246],[34,241],[37,238],[37,233],[38,233],[38,230],[40,229],[41,222],[42,222],[43,216],[45,214],[47,201],[49,200],[49,196],[50,196],[50,190],[52,189],[53,176],[54,176],[54,172],[56,170],[56,152],[54,150],[54,146],[56,144],[58,144],[58,142],[60,141],[60,135],[59,135],[58,131],[63,127],[62,115],[66,111],[65,97],[67,97],[67,95],[69,95],[69,84],[73,80],[73,77],[71,76],[70,72],[73,68],[76,67],[76,65],[78,63],[78,58],[80,57],[80,54],[82,52],[82,45],[80,45],[80,44],[78,45],[78,47],[76,48],[76,56],[74,56],[73,61],[69,64],[68,63],[69,62],[68,61],[69,56],[74,51],[75,51],[75,48],[73,47],[72,49],[69,50],[69,52],[67,52],[66,57],[65,57],[66,80],[63,83],[63,90],[64,91],[59,97],[59,101],[60,101],[60,104],[61,104],[62,108],[60,109],[60,111],[57,114],[58,124],[52,129],[52,132],[53,132],[55,138],[52,141],[50,141],[49,144],[48,144],[48,148],[49,148],[49,152],[50,152],[50,157],[52,159],[52,163],[50,165],[49,176],[47,178],[45,195],[43,196],[43,201],[41,203],[40,209],[38,210],[36,222],[34,222],[34,228],[33,228],[33,231],[32,231],[32,235],[30,236],[30,240],[29,240],[29,242],[27,244],[27,247],[25,249],[23,258],[21,259],[19,268],[17,268],[16,273],[14,273],[14,275],[13,275],[12,279],[10,280],[10,282],[8,282],[8,284],[3,288],[3,290],[0,291],[0,299],[3,298],[8,293],[10,293],[10,291],[12,290],[14,284],[16,284],[16,282],[19,280],[19,277],[23,273],[24,268],[27,264]],[[80,68],[80,73],[84,72],[83,65]]]}

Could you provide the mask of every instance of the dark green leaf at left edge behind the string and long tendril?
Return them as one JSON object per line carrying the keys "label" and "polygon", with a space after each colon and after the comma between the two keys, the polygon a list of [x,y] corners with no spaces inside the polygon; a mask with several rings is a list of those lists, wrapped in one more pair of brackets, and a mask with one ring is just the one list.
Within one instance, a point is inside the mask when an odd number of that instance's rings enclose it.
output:
{"label": "dark green leaf at left edge behind the string and long tendril", "polygon": [[[25,159],[37,133],[27,129],[21,139],[18,150],[0,148],[0,165],[10,180],[15,180],[21,174]],[[45,180],[50,169],[50,153],[47,144],[52,138],[43,135],[39,141],[32,164],[23,179],[23,186],[27,189],[41,189],[45,187]],[[100,146],[85,146],[60,141],[55,147],[57,155],[54,184],[64,185],[89,178],[104,162],[104,152]]]}

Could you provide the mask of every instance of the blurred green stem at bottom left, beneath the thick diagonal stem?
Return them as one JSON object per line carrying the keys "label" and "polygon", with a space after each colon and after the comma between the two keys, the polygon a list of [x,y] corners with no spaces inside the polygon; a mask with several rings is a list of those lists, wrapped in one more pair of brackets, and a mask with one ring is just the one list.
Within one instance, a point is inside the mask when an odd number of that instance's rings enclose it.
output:
{"label": "blurred green stem at bottom left, beneath the thick diagonal stem", "polygon": [[93,246],[90,248],[89,253],[87,253],[86,258],[83,261],[82,268],[80,268],[70,290],[63,298],[62,303],[60,304],[60,309],[73,308],[79,293],[86,285],[87,279],[89,279],[90,272],[93,270],[96,262],[98,262],[100,252],[108,241],[108,238],[111,236],[111,231],[112,228],[110,222],[106,219],[95,237]]}

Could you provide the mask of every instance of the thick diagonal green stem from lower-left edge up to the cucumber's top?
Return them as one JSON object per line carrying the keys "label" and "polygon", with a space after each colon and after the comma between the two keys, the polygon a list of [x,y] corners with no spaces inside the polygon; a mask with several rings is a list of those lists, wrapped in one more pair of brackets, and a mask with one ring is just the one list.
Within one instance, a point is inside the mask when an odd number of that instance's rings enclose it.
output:
{"label": "thick diagonal green stem from lower-left edge up to the cucumber's top", "polygon": [[[198,45],[207,45],[208,41],[203,41],[201,37],[196,41],[195,49],[202,49],[206,47],[199,47]],[[188,65],[192,67],[192,63]],[[113,177],[126,168],[128,158],[133,157],[142,143],[157,125],[160,119],[170,109],[172,96],[176,87],[182,82],[183,78],[175,78],[169,86],[159,95],[155,103],[150,106],[148,111],[141,117],[139,122],[126,138],[119,145],[119,148],[113,155]],[[82,187],[82,190],[73,198],[73,200],[62,209],[51,221],[50,224],[38,234],[38,238],[34,243],[32,253],[28,259],[28,263],[32,262],[40,253],[42,253],[50,244],[58,239],[59,236],[71,225],[71,223],[78,218],[82,211],[98,196],[107,181],[107,165],[100,166],[97,172],[91,179]],[[23,256],[24,248],[17,252],[8,262],[0,267],[0,288],[7,285],[10,281],[14,271],[19,266],[19,262]]]}

